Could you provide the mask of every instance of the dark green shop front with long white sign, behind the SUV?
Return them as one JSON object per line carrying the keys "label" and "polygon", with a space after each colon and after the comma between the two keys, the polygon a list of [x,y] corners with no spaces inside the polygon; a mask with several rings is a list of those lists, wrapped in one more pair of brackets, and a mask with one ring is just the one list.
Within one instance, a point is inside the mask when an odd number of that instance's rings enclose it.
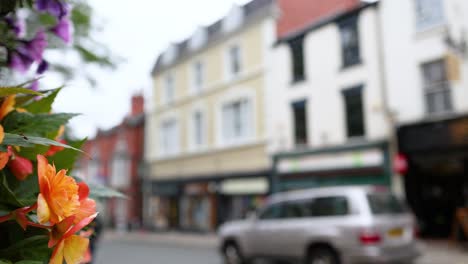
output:
{"label": "dark green shop front with long white sign, behind the SUV", "polygon": [[390,187],[386,142],[366,142],[317,150],[280,153],[274,157],[273,190],[343,185]]}

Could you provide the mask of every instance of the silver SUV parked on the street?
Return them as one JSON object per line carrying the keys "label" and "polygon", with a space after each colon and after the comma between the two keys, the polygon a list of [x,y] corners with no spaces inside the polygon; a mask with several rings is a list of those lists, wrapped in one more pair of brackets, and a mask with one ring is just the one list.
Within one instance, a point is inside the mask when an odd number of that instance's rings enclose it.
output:
{"label": "silver SUV parked on the street", "polygon": [[247,220],[219,229],[228,264],[262,257],[307,264],[409,263],[414,220],[386,188],[353,186],[275,194]]}

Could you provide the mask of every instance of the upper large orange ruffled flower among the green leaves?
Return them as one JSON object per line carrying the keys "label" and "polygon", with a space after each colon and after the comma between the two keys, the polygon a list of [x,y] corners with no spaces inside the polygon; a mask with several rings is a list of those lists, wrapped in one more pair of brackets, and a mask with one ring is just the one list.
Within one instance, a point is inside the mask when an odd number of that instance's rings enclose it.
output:
{"label": "upper large orange ruffled flower among the green leaves", "polygon": [[37,216],[39,223],[57,224],[75,214],[80,206],[78,185],[66,175],[65,170],[56,173],[55,166],[48,163],[42,155],[37,155],[37,174],[39,196]]}

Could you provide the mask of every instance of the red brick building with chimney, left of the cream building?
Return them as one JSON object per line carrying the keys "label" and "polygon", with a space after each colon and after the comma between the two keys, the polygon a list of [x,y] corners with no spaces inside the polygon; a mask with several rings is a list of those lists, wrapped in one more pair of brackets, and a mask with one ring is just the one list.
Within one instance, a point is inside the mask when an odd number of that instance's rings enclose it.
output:
{"label": "red brick building with chimney, left of the cream building", "polygon": [[131,113],[117,126],[100,130],[88,140],[80,160],[80,173],[87,181],[113,188],[125,196],[100,201],[102,218],[108,225],[125,231],[142,223],[140,175],[144,147],[144,98],[132,97]]}

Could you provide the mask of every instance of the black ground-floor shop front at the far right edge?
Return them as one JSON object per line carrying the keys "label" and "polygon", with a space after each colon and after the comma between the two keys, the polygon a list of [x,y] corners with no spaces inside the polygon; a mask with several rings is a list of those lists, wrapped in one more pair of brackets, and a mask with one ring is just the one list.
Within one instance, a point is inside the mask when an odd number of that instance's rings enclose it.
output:
{"label": "black ground-floor shop front at the far right edge", "polygon": [[423,237],[447,238],[457,208],[468,208],[468,116],[398,128],[408,203]]}

